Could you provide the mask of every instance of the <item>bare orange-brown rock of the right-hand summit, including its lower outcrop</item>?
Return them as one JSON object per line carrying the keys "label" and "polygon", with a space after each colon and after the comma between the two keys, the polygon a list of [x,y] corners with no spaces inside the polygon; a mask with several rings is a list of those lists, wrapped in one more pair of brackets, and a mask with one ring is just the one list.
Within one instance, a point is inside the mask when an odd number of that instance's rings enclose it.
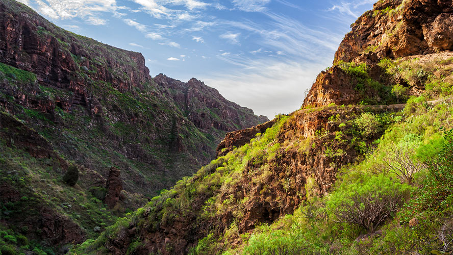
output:
{"label": "bare orange-brown rock of the right-hand summit, including its lower outcrop", "polygon": [[367,95],[378,94],[372,88],[367,88],[362,94],[358,92],[355,75],[338,67],[345,62],[357,65],[365,63],[374,81],[390,89],[394,84],[401,83],[417,94],[423,88],[411,87],[400,80],[388,80],[378,63],[384,58],[396,59],[453,50],[452,22],[451,1],[379,1],[374,4],[373,10],[365,12],[351,25],[351,32],[346,34],[335,53],[334,66],[318,75],[303,106],[359,104],[364,99],[366,104],[385,105],[380,102],[382,96],[366,100]]}

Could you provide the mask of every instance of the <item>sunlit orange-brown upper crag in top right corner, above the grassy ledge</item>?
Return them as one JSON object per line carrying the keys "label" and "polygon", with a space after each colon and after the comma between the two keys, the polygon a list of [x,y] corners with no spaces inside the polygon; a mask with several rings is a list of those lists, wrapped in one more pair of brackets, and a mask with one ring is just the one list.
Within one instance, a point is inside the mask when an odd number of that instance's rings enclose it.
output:
{"label": "sunlit orange-brown upper crag in top right corner, above the grassy ledge", "polygon": [[380,59],[453,50],[451,1],[385,0],[373,7],[353,24],[334,63],[358,60],[370,53],[371,47]]}

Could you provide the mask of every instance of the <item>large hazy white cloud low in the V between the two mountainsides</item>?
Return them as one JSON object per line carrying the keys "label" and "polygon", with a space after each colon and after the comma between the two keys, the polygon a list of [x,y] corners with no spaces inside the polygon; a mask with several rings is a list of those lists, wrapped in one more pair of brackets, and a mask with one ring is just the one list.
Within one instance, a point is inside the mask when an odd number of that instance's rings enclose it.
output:
{"label": "large hazy white cloud low in the V between the two mountainsides", "polygon": [[224,57],[238,68],[228,73],[207,73],[199,77],[216,88],[225,98],[254,109],[270,119],[278,113],[300,108],[304,92],[309,89],[322,64],[296,61],[281,62],[267,58]]}

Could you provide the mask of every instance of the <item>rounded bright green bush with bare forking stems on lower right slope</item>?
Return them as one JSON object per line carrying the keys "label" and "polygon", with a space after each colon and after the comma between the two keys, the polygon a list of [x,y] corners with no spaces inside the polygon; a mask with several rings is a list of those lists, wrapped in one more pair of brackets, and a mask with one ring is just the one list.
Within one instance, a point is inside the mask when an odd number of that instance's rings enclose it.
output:
{"label": "rounded bright green bush with bare forking stems on lower right slope", "polygon": [[362,178],[362,182],[343,183],[326,204],[336,222],[356,224],[373,233],[403,205],[410,186],[383,174]]}

